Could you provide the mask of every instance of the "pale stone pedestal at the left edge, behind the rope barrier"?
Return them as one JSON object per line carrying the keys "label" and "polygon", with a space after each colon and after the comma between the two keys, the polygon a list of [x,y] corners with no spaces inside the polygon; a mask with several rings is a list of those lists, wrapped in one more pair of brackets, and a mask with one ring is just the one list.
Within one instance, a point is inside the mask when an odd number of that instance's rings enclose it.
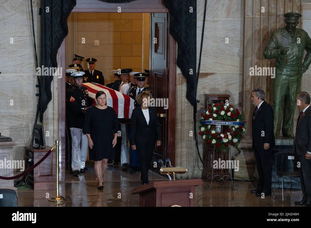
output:
{"label": "pale stone pedestal at the left edge, behind the rope barrier", "polygon": [[[12,161],[13,157],[13,148],[18,144],[17,141],[12,141],[11,138],[0,136],[0,160],[4,161]],[[6,165],[6,164],[4,164]],[[1,168],[0,176],[4,177],[12,177],[14,176],[14,169]],[[2,180],[0,179],[0,189],[13,189],[17,191],[17,188],[14,187],[14,180]]]}

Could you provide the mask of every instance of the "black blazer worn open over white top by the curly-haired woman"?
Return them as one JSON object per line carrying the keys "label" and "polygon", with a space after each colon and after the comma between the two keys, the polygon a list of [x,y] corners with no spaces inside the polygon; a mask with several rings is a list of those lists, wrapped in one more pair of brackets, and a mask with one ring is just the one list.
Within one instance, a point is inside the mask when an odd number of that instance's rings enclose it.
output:
{"label": "black blazer worn open over white top by the curly-haired woman", "polygon": [[149,108],[149,124],[142,113],[141,106],[135,108],[131,117],[131,145],[137,143],[155,143],[161,140],[161,127],[157,111],[154,107]]}

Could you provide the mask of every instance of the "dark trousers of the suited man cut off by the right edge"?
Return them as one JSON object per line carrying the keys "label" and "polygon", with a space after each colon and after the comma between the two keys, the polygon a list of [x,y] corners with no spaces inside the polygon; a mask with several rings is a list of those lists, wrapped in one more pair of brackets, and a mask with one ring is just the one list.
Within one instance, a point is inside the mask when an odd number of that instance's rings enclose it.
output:
{"label": "dark trousers of the suited man cut off by the right edge", "polygon": [[305,155],[296,154],[298,162],[300,162],[299,178],[302,193],[302,200],[311,202],[311,159],[306,159]]}

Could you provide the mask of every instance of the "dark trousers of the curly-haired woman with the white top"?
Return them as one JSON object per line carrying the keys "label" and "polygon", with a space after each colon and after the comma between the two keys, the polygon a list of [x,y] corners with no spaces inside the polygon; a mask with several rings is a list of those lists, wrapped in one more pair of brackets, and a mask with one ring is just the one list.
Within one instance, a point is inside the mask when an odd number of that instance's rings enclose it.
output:
{"label": "dark trousers of the curly-haired woman with the white top", "polygon": [[148,182],[148,170],[152,161],[152,154],[154,149],[155,143],[136,144],[141,172],[140,178],[144,182]]}

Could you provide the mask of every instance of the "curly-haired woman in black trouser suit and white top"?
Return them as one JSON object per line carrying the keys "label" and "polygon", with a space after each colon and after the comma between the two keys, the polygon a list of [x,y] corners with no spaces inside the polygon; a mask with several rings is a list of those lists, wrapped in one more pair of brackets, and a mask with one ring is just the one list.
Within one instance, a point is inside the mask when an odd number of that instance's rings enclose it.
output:
{"label": "curly-haired woman in black trouser suit and white top", "polygon": [[152,95],[149,91],[143,91],[136,97],[141,106],[132,112],[131,117],[131,147],[139,156],[142,185],[148,184],[148,170],[152,160],[152,154],[157,146],[161,145],[161,127],[156,109],[149,107]]}

